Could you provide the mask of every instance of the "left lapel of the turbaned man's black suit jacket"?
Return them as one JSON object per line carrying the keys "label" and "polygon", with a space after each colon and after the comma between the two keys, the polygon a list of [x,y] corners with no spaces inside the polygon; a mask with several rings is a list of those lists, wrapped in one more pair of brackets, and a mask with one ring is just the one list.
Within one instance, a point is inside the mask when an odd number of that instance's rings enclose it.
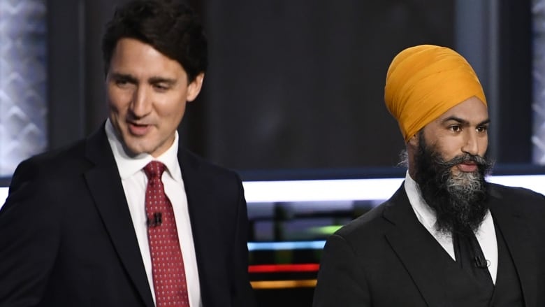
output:
{"label": "left lapel of the turbaned man's black suit jacket", "polygon": [[416,218],[403,186],[395,192],[386,206],[384,218],[395,225],[386,234],[386,239],[414,280],[422,297],[428,306],[451,306],[444,295],[444,284],[441,278],[437,278],[443,276],[442,272],[446,267],[446,257],[437,255],[445,251],[439,243],[433,244],[436,243],[435,238]]}

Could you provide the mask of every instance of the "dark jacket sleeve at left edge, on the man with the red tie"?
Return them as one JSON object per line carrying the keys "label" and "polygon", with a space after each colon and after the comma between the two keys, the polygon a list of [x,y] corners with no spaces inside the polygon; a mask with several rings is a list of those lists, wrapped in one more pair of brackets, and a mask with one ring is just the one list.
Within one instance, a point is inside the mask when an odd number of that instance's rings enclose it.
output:
{"label": "dark jacket sleeve at left edge, on the man with the red tie", "polygon": [[0,306],[35,306],[59,246],[59,210],[38,168],[17,167],[0,210]]}

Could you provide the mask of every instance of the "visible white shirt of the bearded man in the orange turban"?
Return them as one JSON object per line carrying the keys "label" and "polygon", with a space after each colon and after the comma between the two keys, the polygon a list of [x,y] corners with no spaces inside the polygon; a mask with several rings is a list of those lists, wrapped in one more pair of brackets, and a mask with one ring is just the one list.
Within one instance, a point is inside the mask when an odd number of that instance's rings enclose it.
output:
{"label": "visible white shirt of the bearded man in the orange turban", "polygon": [[[409,176],[408,171],[407,175],[405,175],[405,192],[407,192],[407,197],[409,198],[412,209],[421,224],[430,231],[430,234],[432,234],[435,240],[437,240],[444,250],[449,253],[452,259],[456,261],[452,236],[450,234],[442,234],[435,229],[435,221],[437,221],[435,212],[422,198],[418,184]],[[477,241],[479,241],[479,245],[481,245],[484,257],[490,263],[488,271],[495,284],[497,276],[497,241],[494,220],[492,219],[490,210],[487,210],[484,221],[481,226],[479,226],[475,236],[477,237]]]}

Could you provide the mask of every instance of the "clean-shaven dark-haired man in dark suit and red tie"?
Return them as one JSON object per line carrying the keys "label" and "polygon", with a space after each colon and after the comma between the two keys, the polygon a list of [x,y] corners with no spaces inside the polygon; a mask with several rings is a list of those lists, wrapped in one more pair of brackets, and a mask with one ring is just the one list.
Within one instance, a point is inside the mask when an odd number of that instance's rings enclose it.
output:
{"label": "clean-shaven dark-haired man in dark suit and red tie", "polygon": [[181,148],[207,44],[168,0],[103,36],[109,118],[22,162],[0,211],[0,306],[254,306],[240,178]]}

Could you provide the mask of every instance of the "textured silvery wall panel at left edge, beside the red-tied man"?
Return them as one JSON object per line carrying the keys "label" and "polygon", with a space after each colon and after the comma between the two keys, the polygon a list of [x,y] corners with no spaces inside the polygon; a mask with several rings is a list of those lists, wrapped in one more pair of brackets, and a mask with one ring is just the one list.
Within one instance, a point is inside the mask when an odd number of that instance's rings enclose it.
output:
{"label": "textured silvery wall panel at left edge, beside the red-tied man", "polygon": [[48,145],[45,14],[45,0],[0,1],[0,176]]}

